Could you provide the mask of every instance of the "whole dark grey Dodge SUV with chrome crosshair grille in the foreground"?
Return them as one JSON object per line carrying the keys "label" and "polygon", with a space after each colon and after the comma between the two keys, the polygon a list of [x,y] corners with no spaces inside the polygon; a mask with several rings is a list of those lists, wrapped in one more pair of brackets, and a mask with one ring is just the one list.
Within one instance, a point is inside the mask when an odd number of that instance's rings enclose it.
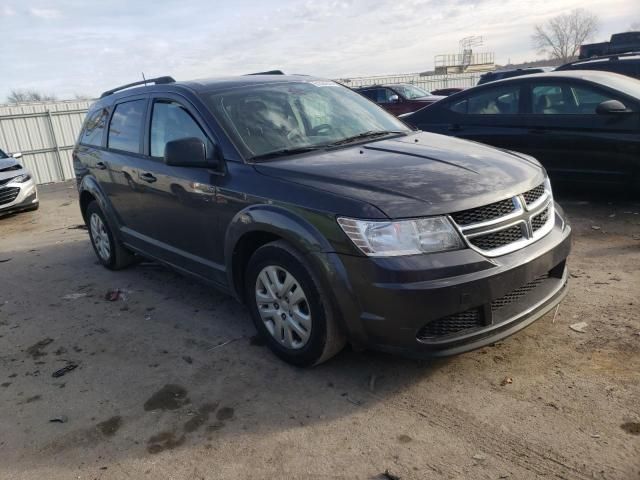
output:
{"label": "whole dark grey Dodge SUV with chrome crosshair grille in the foreground", "polygon": [[98,259],[232,294],[286,361],[460,353],[565,294],[570,228],[533,158],[307,76],[147,82],[105,92],[73,151]]}

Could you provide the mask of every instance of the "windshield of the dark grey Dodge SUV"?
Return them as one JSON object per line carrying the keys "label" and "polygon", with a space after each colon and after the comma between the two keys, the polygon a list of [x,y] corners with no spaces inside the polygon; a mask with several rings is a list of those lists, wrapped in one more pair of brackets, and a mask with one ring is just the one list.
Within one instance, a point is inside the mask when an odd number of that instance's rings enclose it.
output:
{"label": "windshield of the dark grey Dodge SUV", "polygon": [[330,81],[271,83],[203,95],[245,157],[319,148],[408,127],[352,90]]}

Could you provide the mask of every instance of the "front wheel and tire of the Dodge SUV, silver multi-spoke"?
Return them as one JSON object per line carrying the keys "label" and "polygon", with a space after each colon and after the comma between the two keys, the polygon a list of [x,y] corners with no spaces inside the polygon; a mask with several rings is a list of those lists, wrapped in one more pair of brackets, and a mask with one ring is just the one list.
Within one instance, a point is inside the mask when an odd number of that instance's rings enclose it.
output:
{"label": "front wheel and tire of the Dodge SUV, silver multi-spoke", "polygon": [[[271,281],[274,276],[276,282]],[[294,285],[287,289],[291,281]],[[278,240],[254,252],[245,272],[245,294],[258,334],[285,362],[318,365],[344,347],[346,338],[329,295],[304,257],[288,243]],[[306,317],[309,320],[300,321]]]}

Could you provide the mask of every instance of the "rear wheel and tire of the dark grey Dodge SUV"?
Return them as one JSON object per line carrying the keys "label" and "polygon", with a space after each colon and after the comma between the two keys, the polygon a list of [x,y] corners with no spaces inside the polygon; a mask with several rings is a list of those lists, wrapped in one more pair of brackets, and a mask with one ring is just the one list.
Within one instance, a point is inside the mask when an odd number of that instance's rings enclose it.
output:
{"label": "rear wheel and tire of the dark grey Dodge SUV", "polygon": [[89,204],[85,218],[91,246],[102,265],[109,270],[121,270],[136,261],[134,254],[116,240],[98,202],[94,200]]}

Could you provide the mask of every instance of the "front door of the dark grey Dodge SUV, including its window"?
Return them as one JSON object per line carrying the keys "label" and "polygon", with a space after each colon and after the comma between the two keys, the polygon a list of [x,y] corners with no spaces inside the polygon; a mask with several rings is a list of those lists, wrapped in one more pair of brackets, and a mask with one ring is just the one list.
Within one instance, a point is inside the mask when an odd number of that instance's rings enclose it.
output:
{"label": "front door of the dark grey Dodge SUV, including its window", "polygon": [[202,125],[195,109],[181,97],[167,94],[152,99],[145,159],[136,178],[136,209],[146,221],[136,233],[152,255],[208,280],[224,283],[226,276],[221,262],[224,245],[219,236],[216,200],[221,171],[170,166],[163,159],[167,142],[192,137],[202,139],[207,156],[213,159],[214,137]]}

